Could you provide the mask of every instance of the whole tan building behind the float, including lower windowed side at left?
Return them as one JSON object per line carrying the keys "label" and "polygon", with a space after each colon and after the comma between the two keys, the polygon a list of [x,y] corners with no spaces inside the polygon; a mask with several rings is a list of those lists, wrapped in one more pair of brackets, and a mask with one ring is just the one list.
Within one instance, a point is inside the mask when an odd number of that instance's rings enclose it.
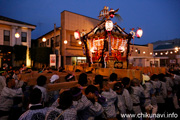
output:
{"label": "whole tan building behind the float, including lower windowed side at left", "polygon": [[[39,47],[55,48],[56,68],[66,65],[77,65],[86,62],[79,40],[75,40],[74,32],[79,30],[81,35],[86,34],[100,21],[69,11],[61,13],[61,27],[52,30],[38,38]],[[54,40],[55,36],[55,40]],[[46,42],[42,41],[46,38]],[[67,41],[65,44],[64,41]]]}

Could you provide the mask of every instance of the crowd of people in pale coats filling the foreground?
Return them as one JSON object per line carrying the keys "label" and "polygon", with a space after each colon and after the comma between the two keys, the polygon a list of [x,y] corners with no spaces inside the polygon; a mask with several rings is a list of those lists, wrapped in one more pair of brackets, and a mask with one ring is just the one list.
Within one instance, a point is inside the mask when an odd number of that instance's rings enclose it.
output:
{"label": "crowd of people in pale coats filling the foreground", "polygon": [[[142,81],[118,79],[112,73],[109,79],[96,75],[90,83],[87,74],[91,72],[81,73],[77,86],[58,91],[47,91],[44,75],[37,78],[36,85],[29,86],[21,79],[23,70],[1,73],[0,120],[154,120],[156,117],[137,115],[173,112],[180,115],[179,69],[168,69],[166,74],[143,74]],[[48,84],[56,84],[57,79],[57,74],[52,75]],[[65,79],[71,81],[74,76],[68,74]],[[122,116],[125,114],[136,116]]]}

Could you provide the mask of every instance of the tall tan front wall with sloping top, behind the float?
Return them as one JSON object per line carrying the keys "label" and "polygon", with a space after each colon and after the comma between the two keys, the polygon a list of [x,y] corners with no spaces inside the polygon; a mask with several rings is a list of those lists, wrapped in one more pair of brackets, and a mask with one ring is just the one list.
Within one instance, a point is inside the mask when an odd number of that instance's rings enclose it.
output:
{"label": "tall tan front wall with sloping top, behind the float", "polygon": [[61,55],[63,64],[77,65],[85,63],[86,57],[83,53],[80,42],[74,38],[74,32],[79,30],[81,35],[91,31],[100,20],[76,14],[69,11],[61,13],[61,35],[62,41],[67,40],[67,44],[61,44]]}

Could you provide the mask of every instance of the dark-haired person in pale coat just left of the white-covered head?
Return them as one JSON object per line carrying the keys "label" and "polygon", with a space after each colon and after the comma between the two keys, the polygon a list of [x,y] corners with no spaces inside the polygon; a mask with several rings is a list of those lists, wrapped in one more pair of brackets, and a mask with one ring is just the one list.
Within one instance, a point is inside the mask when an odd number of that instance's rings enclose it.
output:
{"label": "dark-haired person in pale coat just left of the white-covered head", "polygon": [[46,81],[47,78],[44,75],[41,75],[37,78],[37,85],[34,86],[34,88],[38,88],[42,92],[42,103],[46,103],[48,101],[48,95],[47,95],[47,90],[46,90]]}

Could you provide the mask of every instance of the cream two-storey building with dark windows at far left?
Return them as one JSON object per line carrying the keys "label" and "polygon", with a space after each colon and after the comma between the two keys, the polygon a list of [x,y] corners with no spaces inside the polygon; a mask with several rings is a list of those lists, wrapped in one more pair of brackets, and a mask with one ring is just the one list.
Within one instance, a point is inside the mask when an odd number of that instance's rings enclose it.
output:
{"label": "cream two-storey building with dark windows at far left", "polygon": [[[35,25],[0,16],[0,67],[3,64],[19,66],[20,63],[14,61],[13,47],[15,45],[27,46],[27,54],[29,54],[31,31],[35,28]],[[19,37],[15,37],[16,33],[19,34]],[[8,51],[8,48],[11,50]],[[26,56],[26,65],[31,66],[29,55]]]}

